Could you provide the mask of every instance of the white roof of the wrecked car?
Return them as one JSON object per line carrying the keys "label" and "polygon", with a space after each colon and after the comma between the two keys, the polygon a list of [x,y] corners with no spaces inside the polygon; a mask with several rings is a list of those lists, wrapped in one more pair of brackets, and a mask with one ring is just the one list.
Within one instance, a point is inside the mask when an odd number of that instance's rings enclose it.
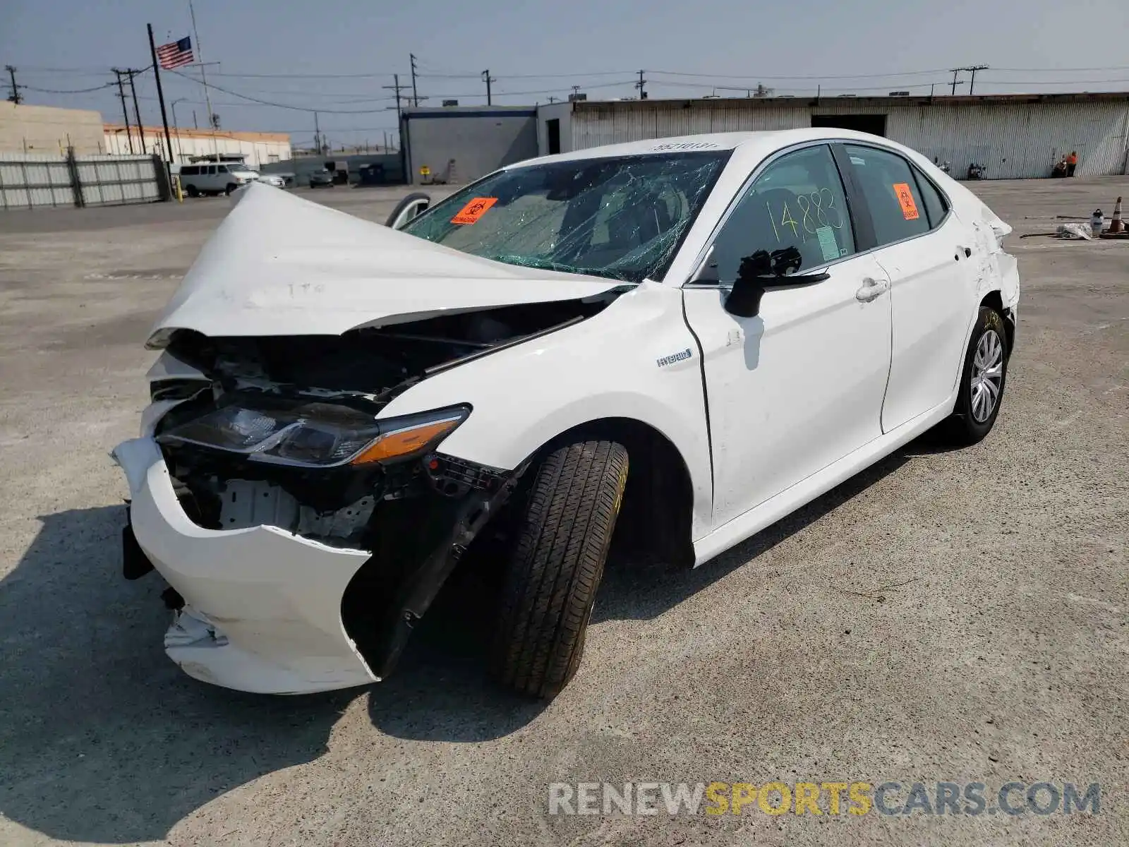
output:
{"label": "white roof of the wrecked car", "polygon": [[709,150],[741,150],[742,152],[768,155],[773,150],[805,141],[820,140],[859,140],[877,141],[889,147],[898,147],[890,139],[879,136],[872,136],[867,132],[856,132],[855,130],[840,130],[834,128],[803,128],[794,130],[764,130],[760,132],[710,132],[698,136],[676,136],[673,138],[649,138],[642,141],[628,141],[618,145],[603,145],[601,147],[588,147],[571,152],[557,154],[554,156],[541,156],[535,159],[511,165],[510,167],[525,167],[528,165],[543,165],[551,161],[569,161],[574,159],[594,159],[611,156],[647,156],[669,152],[694,152]]}

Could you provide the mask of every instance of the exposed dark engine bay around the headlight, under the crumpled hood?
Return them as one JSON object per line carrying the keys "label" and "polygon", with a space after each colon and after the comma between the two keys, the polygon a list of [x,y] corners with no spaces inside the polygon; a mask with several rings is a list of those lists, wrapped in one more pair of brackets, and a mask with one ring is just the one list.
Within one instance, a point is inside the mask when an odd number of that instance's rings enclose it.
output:
{"label": "exposed dark engine bay around the headlight, under the crumpled hood", "polygon": [[[269,416],[290,414],[289,421],[296,409],[320,420],[352,416],[373,426],[393,398],[430,374],[583,321],[619,294],[443,315],[340,337],[208,338],[177,331],[168,352],[209,377],[152,384],[155,401],[182,401],[155,431],[182,505],[207,529],[265,524],[334,547],[374,549],[379,515],[387,510],[382,503],[493,494],[505,471],[429,449],[314,465],[298,445],[264,461],[269,456],[261,451],[230,452],[201,442],[192,427],[234,408],[239,411],[222,426],[257,426]],[[315,435],[327,437],[324,427]]]}

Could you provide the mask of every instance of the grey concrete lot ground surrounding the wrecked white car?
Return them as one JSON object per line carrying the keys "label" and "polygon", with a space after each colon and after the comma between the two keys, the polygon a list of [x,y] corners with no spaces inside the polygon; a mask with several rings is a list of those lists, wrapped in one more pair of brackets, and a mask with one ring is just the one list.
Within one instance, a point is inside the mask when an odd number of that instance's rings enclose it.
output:
{"label": "grey concrete lot ground surrounding the wrecked white car", "polygon": [[[107,451],[227,201],[0,215],[0,844],[1129,842],[1129,242],[1018,238],[1129,178],[973,189],[1024,282],[995,431],[914,443],[697,571],[613,568],[548,706],[483,680],[456,603],[368,690],[184,676],[160,579],[120,576]],[[399,193],[313,197],[382,220]],[[1103,793],[1070,817],[548,814],[557,781],[808,779]]]}

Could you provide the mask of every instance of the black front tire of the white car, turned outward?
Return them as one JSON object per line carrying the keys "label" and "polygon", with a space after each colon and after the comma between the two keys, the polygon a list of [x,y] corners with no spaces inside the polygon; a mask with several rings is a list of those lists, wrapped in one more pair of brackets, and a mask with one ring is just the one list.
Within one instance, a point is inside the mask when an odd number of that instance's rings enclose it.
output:
{"label": "black front tire of the white car, turned outward", "polygon": [[552,698],[572,679],[628,479],[614,442],[569,444],[537,469],[510,552],[492,670]]}

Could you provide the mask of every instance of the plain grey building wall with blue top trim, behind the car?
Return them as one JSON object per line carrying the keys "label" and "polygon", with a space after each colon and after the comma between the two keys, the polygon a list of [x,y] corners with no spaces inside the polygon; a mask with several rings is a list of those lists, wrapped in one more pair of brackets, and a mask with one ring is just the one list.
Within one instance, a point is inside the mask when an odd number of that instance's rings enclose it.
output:
{"label": "plain grey building wall with blue top trim, behind the car", "polygon": [[[537,113],[531,106],[412,108],[401,120],[409,181],[419,184],[420,167],[431,177],[467,183],[502,165],[537,155]],[[454,159],[455,174],[447,173]]]}

